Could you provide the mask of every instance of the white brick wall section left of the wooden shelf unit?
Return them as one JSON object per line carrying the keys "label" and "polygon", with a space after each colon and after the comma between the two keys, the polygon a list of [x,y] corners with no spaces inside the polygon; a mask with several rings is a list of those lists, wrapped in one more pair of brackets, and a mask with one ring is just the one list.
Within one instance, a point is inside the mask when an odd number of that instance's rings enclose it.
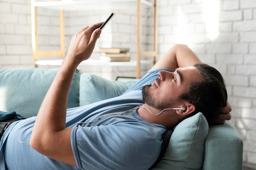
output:
{"label": "white brick wall section left of the wooden shelf unit", "polygon": [[0,0],[0,67],[33,67],[30,17],[29,0]]}

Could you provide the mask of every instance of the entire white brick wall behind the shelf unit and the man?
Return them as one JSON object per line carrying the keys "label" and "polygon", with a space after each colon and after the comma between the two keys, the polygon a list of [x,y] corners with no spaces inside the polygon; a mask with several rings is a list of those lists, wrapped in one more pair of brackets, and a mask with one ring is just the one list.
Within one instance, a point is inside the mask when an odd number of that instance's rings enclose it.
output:
{"label": "entire white brick wall behind the shelf unit and the man", "polygon": [[[211,2],[211,9],[207,9],[209,4],[206,2]],[[229,102],[233,108],[232,121],[244,140],[244,165],[256,169],[256,0],[158,0],[158,5],[158,58],[174,44],[186,43],[204,63],[220,70],[225,77]],[[182,22],[178,20],[178,9],[183,13]],[[65,12],[66,48],[76,31],[105,20],[110,12]],[[131,48],[134,60],[136,11],[114,12],[118,15],[103,30],[104,34],[97,42],[92,58],[98,57],[98,47],[120,46],[126,42],[124,46]],[[147,15],[148,11],[143,13]],[[207,16],[209,13],[214,16]],[[0,0],[0,67],[34,66],[30,18],[30,0]],[[142,19],[145,22],[141,36],[144,43],[142,49],[151,48],[150,19]],[[211,23],[214,25],[209,27]],[[58,48],[58,12],[39,9],[38,24],[40,49]],[[186,28],[182,29],[185,32],[180,34],[180,28]],[[209,28],[216,28],[213,29],[212,39],[209,37]],[[100,71],[95,67],[83,69],[102,76],[108,76],[103,72],[112,72],[108,78],[115,78],[117,72],[119,75],[127,72],[134,74],[132,67],[103,67]]]}

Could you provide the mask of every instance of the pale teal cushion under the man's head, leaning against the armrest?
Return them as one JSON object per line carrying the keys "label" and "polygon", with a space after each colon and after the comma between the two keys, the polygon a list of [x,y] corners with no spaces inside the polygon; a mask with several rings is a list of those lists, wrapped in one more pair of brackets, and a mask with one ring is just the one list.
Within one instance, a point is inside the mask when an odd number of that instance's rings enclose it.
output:
{"label": "pale teal cushion under the man's head, leaning against the armrest", "polygon": [[201,170],[208,130],[207,120],[202,113],[179,123],[173,130],[164,157],[153,170]]}

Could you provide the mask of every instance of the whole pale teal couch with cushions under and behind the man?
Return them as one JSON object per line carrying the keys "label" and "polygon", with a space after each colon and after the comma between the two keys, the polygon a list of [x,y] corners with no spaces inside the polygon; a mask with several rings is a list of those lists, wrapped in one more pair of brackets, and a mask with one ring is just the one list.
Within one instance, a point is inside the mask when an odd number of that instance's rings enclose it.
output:
{"label": "whole pale teal couch with cushions under and behind the man", "polygon": [[[36,116],[58,69],[0,69],[0,110]],[[121,95],[136,80],[110,81],[76,70],[67,107]],[[208,126],[201,113],[179,123],[153,170],[242,170],[243,141],[231,121]],[[152,163],[153,164],[153,163]]]}

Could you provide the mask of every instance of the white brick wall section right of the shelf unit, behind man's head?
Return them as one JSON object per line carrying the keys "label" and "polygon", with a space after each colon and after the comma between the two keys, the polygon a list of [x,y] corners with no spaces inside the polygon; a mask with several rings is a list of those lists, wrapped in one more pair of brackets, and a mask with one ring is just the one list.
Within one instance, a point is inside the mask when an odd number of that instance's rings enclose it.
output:
{"label": "white brick wall section right of the shelf unit, behind man's head", "polygon": [[[211,9],[204,9],[206,2],[213,4]],[[256,0],[162,1],[158,9],[159,58],[179,42],[179,8],[184,18],[182,26],[187,28],[181,42],[224,76],[233,109],[232,121],[244,140],[244,165],[256,169]],[[164,12],[168,9],[171,13]],[[218,19],[207,16],[207,11]],[[211,27],[218,26],[213,39],[208,37],[209,20],[215,23]]]}

